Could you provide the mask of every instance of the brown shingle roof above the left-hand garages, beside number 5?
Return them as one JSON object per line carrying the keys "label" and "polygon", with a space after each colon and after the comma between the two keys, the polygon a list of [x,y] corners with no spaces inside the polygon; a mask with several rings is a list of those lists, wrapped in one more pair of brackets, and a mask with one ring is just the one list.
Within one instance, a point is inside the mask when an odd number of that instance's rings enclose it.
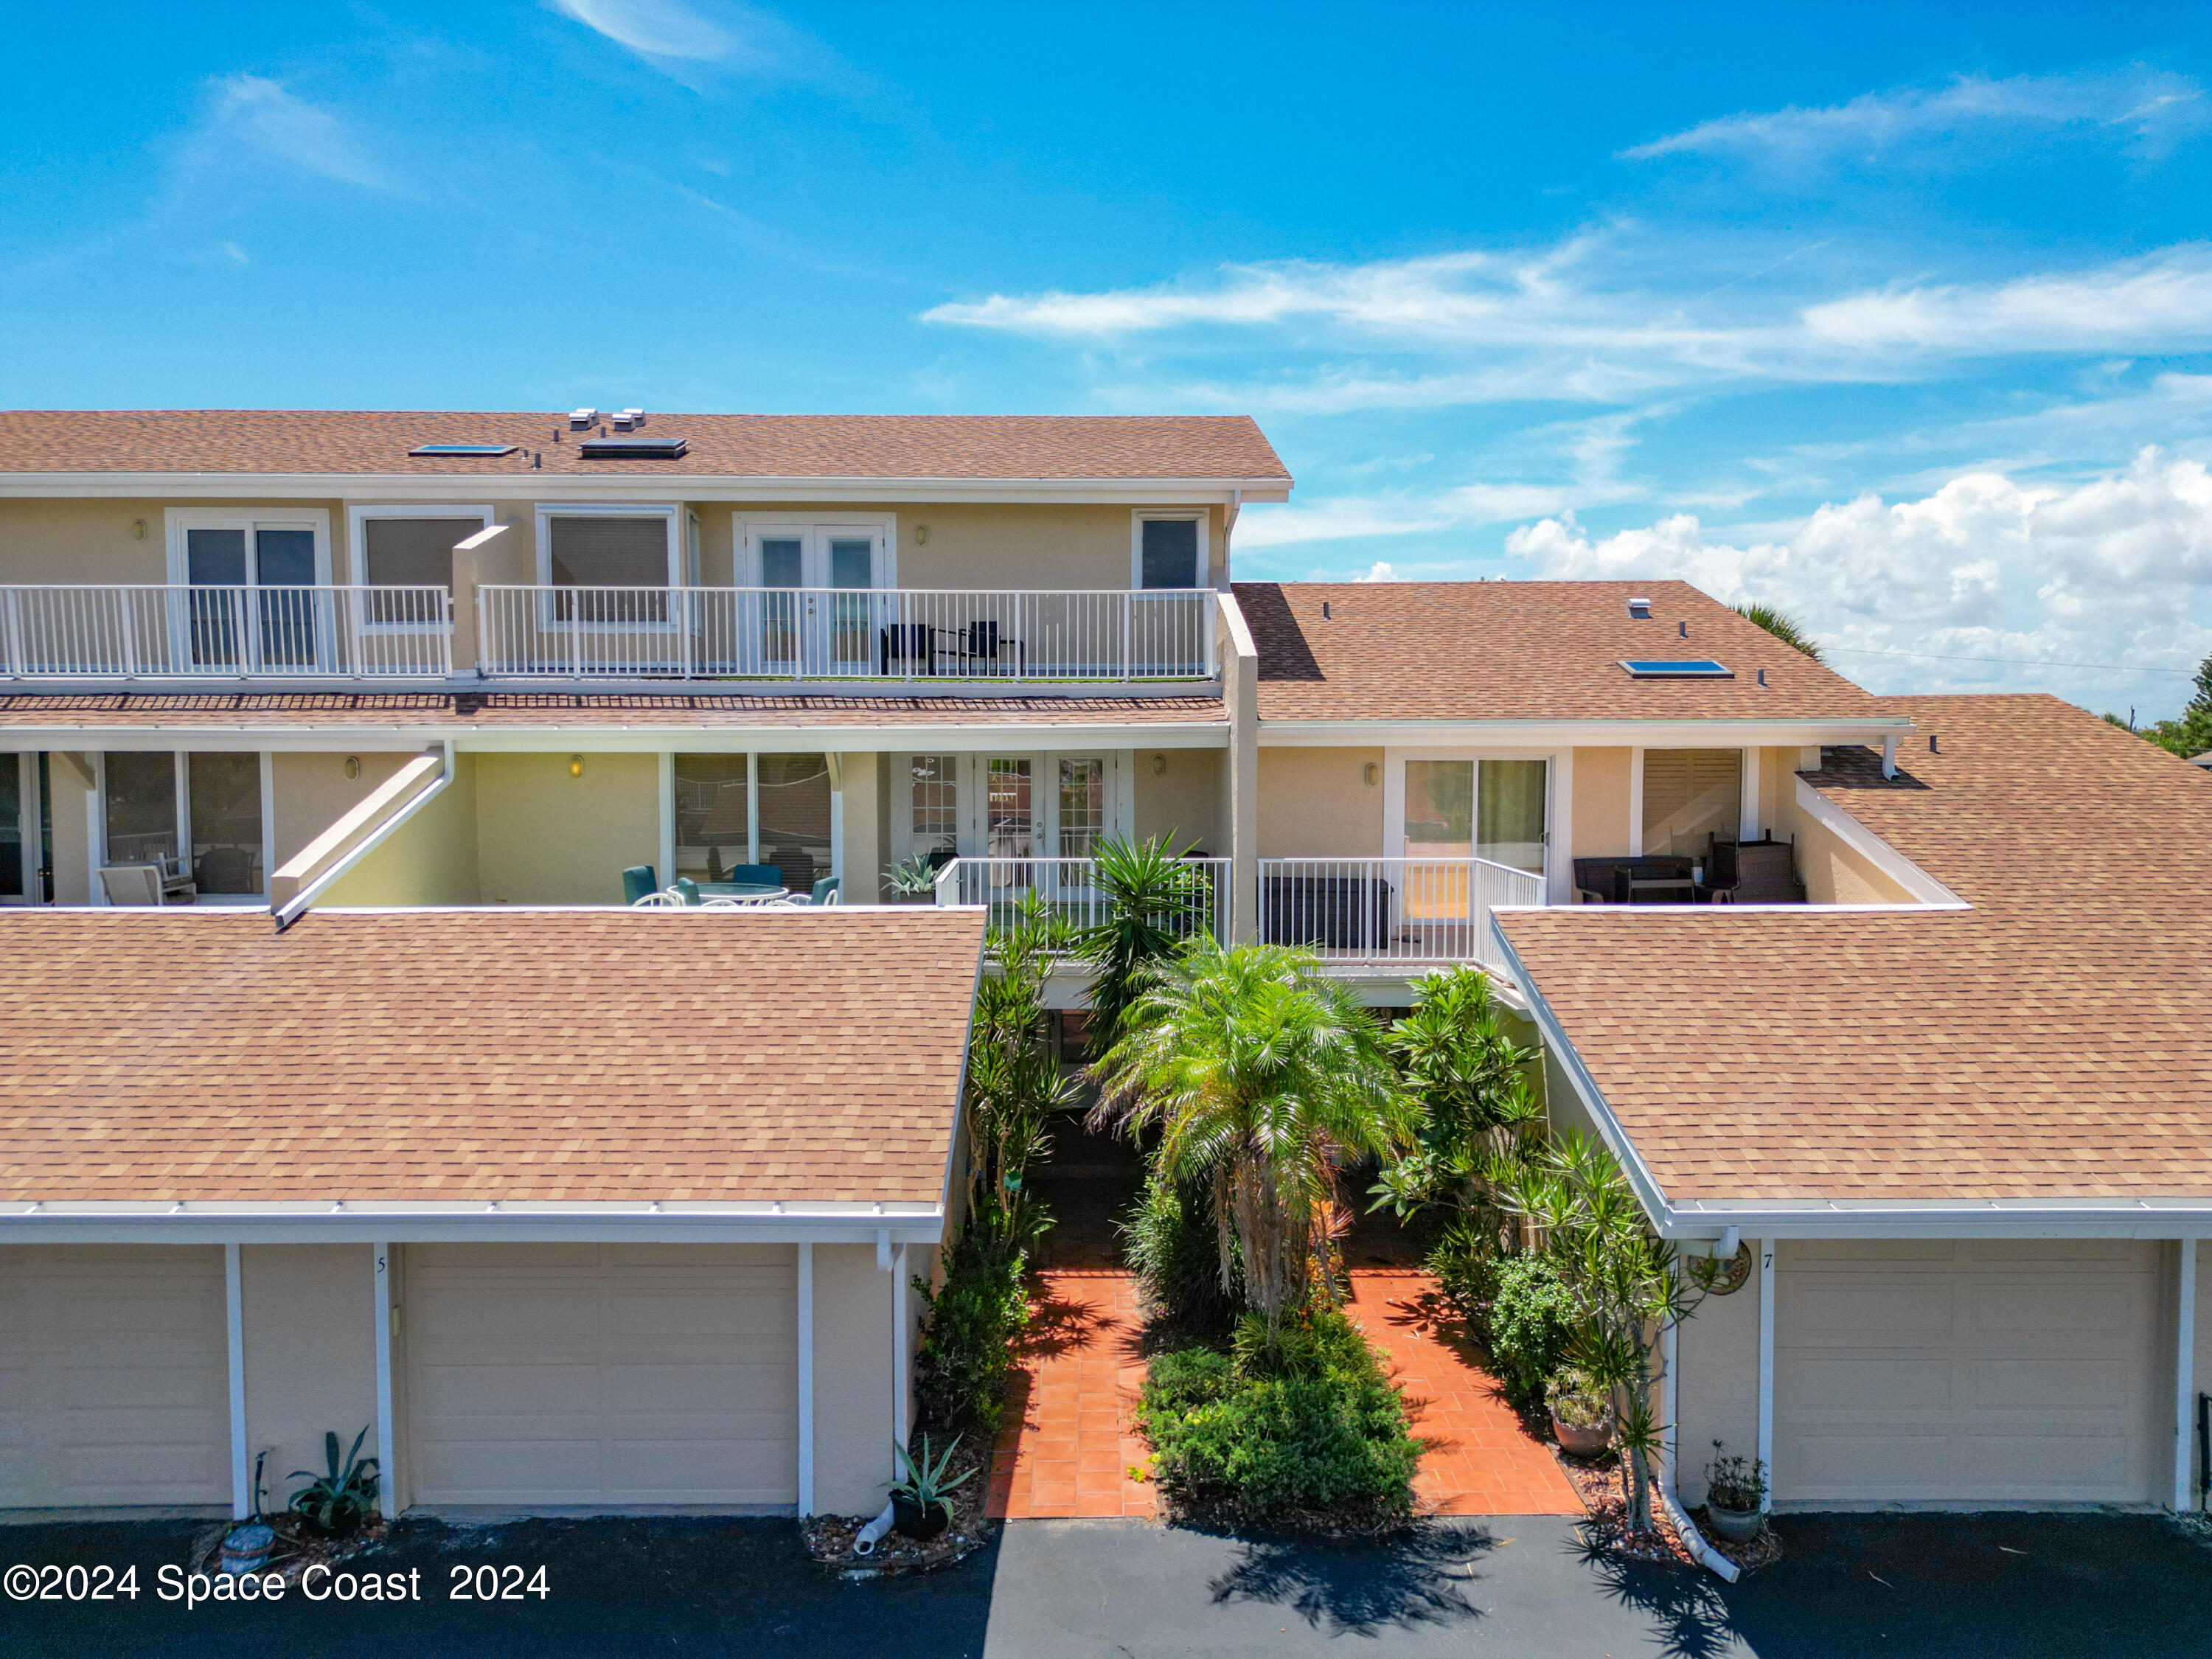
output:
{"label": "brown shingle roof above the left-hand garages, beside number 5", "polygon": [[942,1194],[980,911],[13,911],[0,1194]]}

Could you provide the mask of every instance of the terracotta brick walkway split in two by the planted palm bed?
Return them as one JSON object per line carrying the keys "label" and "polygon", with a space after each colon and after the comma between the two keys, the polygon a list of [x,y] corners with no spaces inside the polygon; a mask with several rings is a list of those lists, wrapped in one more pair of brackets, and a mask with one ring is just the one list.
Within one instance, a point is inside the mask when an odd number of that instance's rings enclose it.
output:
{"label": "terracotta brick walkway split in two by the planted palm bed", "polygon": [[[1037,1276],[1031,1358],[1015,1374],[991,1458],[989,1513],[1006,1520],[1152,1515],[1128,1478],[1148,1447],[1130,1427],[1144,1360],[1137,1287],[1117,1267]],[[1354,1270],[1347,1312],[1389,1356],[1429,1451],[1413,1498],[1433,1515],[1579,1515],[1551,1447],[1531,1440],[1489,1371],[1451,1336],[1436,1281]]]}

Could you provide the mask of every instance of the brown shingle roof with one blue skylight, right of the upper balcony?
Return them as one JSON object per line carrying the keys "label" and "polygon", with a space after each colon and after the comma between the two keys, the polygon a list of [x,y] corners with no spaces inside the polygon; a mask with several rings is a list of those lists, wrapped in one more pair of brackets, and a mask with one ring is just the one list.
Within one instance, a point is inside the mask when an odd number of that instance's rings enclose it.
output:
{"label": "brown shingle roof with one blue skylight, right of the upper balcony", "polygon": [[[1628,615],[1630,597],[1652,602],[1648,622]],[[1843,675],[1688,582],[1239,582],[1237,604],[1263,721],[1876,712]],[[1630,679],[1624,657],[1717,657],[1734,679]]]}

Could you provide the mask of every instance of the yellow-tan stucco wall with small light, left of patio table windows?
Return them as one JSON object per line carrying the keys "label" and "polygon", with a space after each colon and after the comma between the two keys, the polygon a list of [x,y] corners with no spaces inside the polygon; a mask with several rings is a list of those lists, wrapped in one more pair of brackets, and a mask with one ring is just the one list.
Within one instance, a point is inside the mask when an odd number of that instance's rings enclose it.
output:
{"label": "yellow-tan stucco wall with small light, left of patio table windows", "polygon": [[659,759],[476,757],[476,867],[487,905],[619,905],[628,865],[659,865]]}

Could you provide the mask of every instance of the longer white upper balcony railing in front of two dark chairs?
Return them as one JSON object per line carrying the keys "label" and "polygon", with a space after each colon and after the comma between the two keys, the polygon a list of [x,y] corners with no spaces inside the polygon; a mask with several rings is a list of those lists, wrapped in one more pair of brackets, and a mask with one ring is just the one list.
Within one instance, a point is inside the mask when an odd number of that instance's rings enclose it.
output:
{"label": "longer white upper balcony railing in front of two dark chairs", "polygon": [[487,679],[1212,679],[1210,588],[480,586]]}

